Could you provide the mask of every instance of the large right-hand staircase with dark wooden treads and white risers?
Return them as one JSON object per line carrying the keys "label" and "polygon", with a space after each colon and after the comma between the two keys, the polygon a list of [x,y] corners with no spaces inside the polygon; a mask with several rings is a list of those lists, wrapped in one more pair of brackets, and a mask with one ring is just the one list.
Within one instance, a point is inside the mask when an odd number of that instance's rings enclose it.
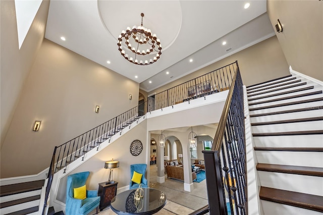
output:
{"label": "large right-hand staircase with dark wooden treads and white risers", "polygon": [[264,214],[323,212],[322,86],[297,75],[247,87]]}

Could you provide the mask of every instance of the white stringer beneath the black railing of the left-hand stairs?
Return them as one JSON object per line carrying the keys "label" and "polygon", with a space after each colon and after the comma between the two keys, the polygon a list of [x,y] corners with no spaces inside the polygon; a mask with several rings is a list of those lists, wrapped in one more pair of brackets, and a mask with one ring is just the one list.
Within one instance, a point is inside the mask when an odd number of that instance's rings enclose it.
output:
{"label": "white stringer beneath the black railing of the left-hand stairs", "polygon": [[[88,151],[87,153],[85,153],[84,156],[79,157],[76,160],[74,160],[74,162],[72,162],[71,164],[66,166],[65,169],[62,169],[62,170],[56,172],[53,175],[52,183],[51,183],[51,187],[50,187],[50,193],[49,193],[49,197],[48,197],[49,198],[49,205],[53,206],[55,208],[55,211],[61,211],[61,210],[65,211],[65,203],[57,200],[57,194],[58,194],[58,189],[59,189],[61,179],[63,177],[65,177],[67,174],[69,174],[70,172],[72,172],[73,170],[75,170],[77,167],[81,166],[84,162],[86,162],[86,160],[95,156],[98,152],[100,152],[101,150],[103,150],[107,146],[111,145],[113,142],[118,140],[124,134],[128,133],[130,130],[132,130],[137,125],[139,125],[144,120],[146,120],[146,115],[143,115],[137,121],[133,122],[131,125],[125,127],[122,131],[113,135],[111,137],[111,139],[107,139],[104,142],[102,142],[98,148],[95,147],[95,148],[91,149],[90,151]],[[65,171],[65,173],[64,173],[64,171]]]}

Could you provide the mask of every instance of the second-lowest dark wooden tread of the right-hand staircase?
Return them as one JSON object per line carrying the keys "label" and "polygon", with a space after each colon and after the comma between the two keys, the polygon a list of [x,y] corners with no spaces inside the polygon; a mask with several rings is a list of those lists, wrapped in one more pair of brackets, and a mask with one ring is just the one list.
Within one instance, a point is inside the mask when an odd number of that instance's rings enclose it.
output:
{"label": "second-lowest dark wooden tread of the right-hand staircase", "polygon": [[258,163],[256,168],[258,171],[323,177],[323,168],[319,167],[300,167],[291,165]]}

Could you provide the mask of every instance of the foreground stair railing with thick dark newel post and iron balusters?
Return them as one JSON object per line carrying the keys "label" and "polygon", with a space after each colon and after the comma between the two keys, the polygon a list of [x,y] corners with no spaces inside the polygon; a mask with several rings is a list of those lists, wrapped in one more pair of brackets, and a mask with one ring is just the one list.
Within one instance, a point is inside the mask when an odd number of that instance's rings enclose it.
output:
{"label": "foreground stair railing with thick dark newel post and iron balusters", "polygon": [[[212,148],[202,151],[210,214],[247,214],[243,84],[236,64]],[[197,212],[207,212],[206,207],[191,214]]]}

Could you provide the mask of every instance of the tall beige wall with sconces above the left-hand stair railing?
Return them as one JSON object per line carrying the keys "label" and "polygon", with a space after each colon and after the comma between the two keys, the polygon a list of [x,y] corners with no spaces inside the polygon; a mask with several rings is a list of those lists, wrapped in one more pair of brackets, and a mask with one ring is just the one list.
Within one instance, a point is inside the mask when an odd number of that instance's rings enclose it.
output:
{"label": "tall beige wall with sconces above the left-hand stair railing", "polygon": [[1,149],[1,177],[46,169],[55,146],[137,106],[129,93],[139,84],[44,39]]}

